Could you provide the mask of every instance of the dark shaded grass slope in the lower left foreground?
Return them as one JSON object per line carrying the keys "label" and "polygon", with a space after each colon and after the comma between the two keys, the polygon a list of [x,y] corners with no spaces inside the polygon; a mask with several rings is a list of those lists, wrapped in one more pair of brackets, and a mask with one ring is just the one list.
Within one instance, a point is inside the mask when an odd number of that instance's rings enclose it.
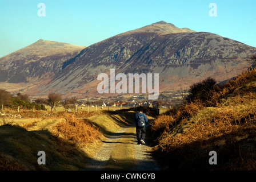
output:
{"label": "dark shaded grass slope in the lower left foreground", "polygon": [[[0,127],[1,157],[14,169],[25,170],[79,170],[87,162],[87,155],[67,140],[56,138],[47,130],[27,131],[20,126]],[[37,163],[38,151],[45,151],[46,165]],[[5,166],[1,170],[6,170]]]}

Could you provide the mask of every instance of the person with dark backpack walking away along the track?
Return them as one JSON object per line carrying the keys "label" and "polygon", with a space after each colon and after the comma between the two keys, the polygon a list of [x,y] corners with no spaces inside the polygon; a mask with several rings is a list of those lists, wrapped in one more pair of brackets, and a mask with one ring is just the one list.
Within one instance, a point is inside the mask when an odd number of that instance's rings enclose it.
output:
{"label": "person with dark backpack walking away along the track", "polygon": [[136,123],[136,135],[138,144],[145,144],[146,137],[146,122],[148,121],[146,114],[143,113],[143,109],[139,108],[139,112],[135,114],[134,121]]}

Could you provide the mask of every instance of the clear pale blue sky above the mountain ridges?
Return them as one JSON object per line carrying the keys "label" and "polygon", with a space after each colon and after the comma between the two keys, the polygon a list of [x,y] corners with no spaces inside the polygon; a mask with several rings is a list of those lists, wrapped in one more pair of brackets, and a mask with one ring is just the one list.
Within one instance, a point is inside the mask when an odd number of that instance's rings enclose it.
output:
{"label": "clear pale blue sky above the mountain ridges", "polygon": [[[38,16],[39,3],[46,16]],[[255,7],[255,0],[0,0],[0,57],[39,39],[90,46],[160,20],[256,47]]]}

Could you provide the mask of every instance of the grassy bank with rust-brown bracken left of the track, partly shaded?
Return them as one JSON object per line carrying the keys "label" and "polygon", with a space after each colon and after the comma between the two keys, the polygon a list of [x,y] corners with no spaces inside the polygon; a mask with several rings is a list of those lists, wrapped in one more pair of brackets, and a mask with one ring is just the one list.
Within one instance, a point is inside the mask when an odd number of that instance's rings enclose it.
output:
{"label": "grassy bank with rust-brown bracken left of the track, partly shaded", "polygon": [[[14,111],[6,111],[13,113]],[[0,118],[0,170],[82,170],[108,137],[128,125],[132,112],[21,111]],[[39,165],[45,151],[46,165]]]}

